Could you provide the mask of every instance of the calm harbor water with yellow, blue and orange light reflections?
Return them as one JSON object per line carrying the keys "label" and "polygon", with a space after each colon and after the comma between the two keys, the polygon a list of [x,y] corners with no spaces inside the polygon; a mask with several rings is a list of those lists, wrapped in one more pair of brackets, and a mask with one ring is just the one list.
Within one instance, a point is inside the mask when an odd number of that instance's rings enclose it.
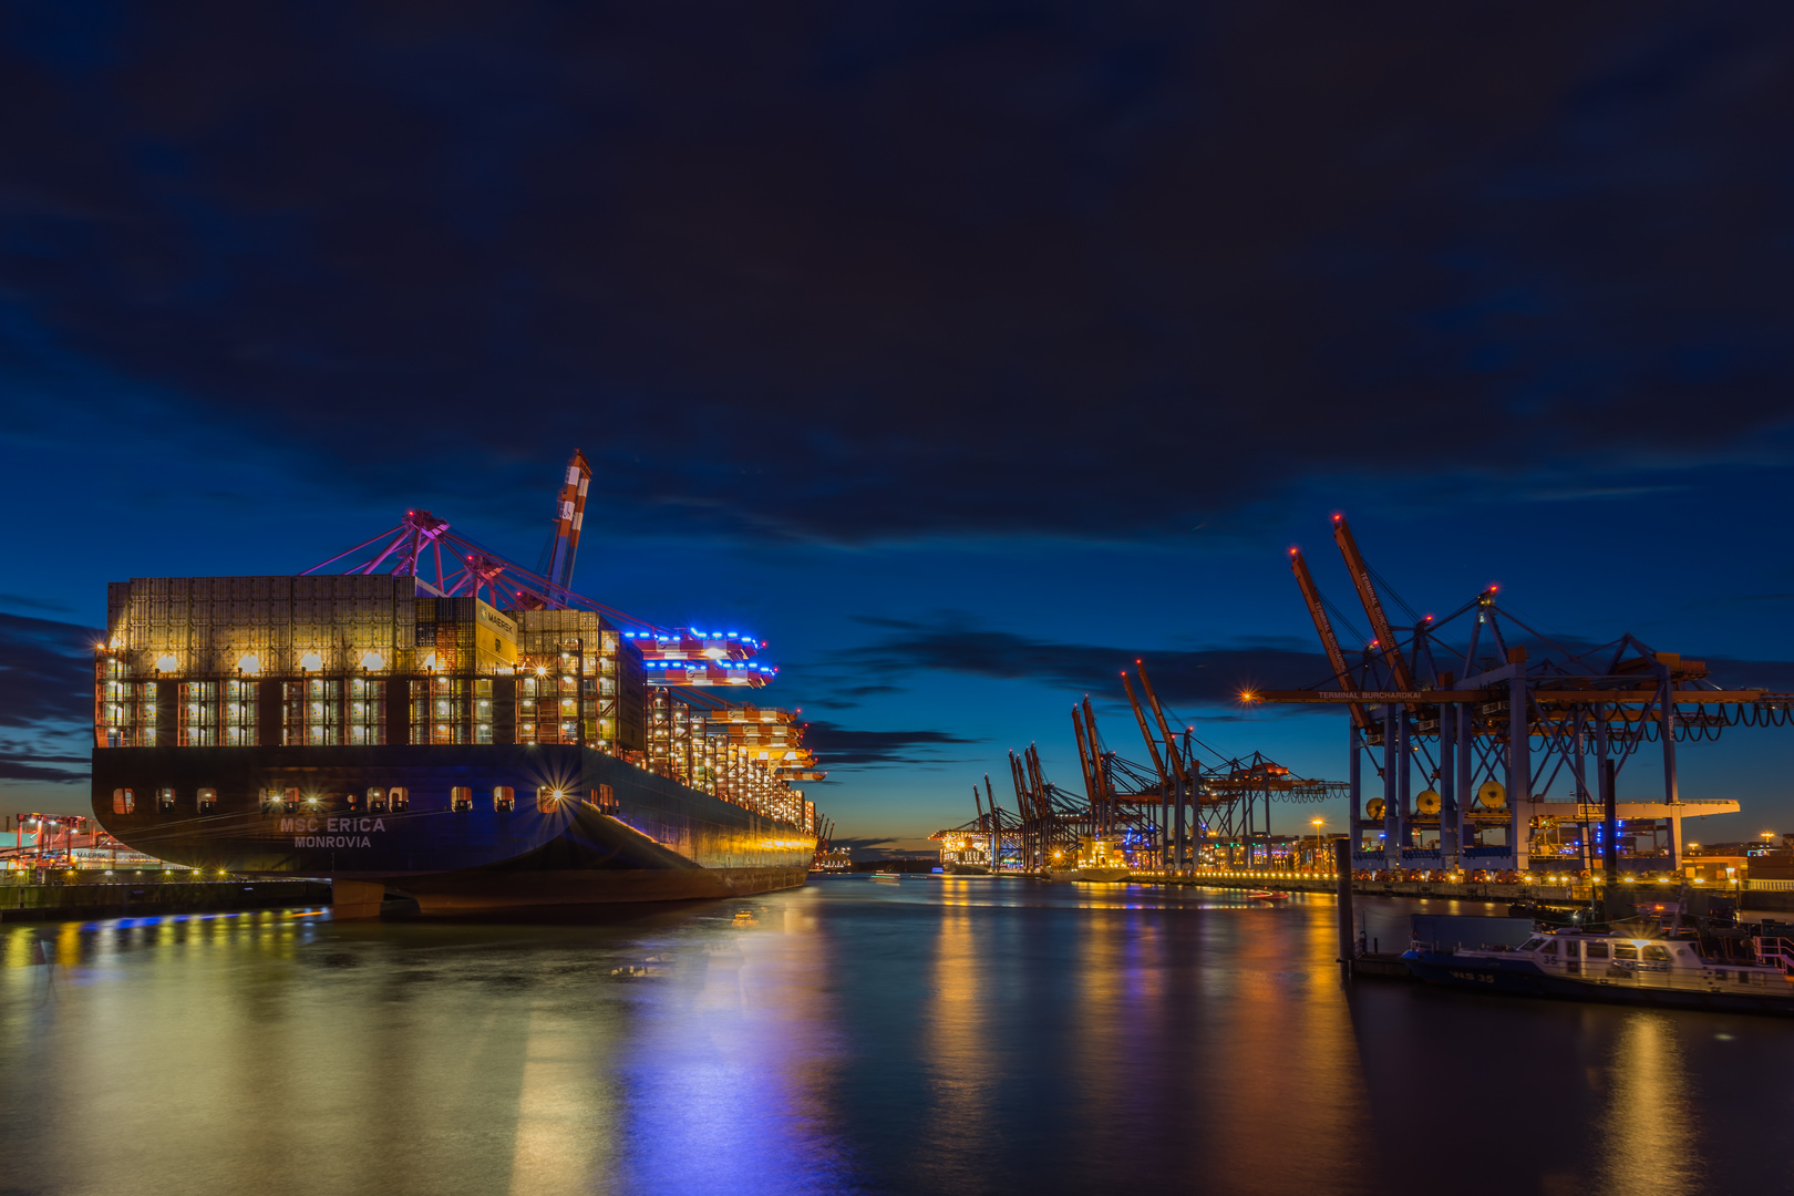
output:
{"label": "calm harbor water with yellow, blue and orange light reflections", "polygon": [[[1360,898],[1399,950],[1410,913]],[[1780,1191],[1794,1020],[1340,981],[1331,898],[820,877],[0,925],[0,1192]]]}

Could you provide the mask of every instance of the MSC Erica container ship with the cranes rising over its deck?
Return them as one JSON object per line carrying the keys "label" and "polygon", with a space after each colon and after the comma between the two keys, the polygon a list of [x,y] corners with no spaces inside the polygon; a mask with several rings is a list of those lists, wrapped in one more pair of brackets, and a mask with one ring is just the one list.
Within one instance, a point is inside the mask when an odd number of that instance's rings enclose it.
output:
{"label": "MSC Erica container ship with the cranes rising over its deck", "polygon": [[[337,916],[687,900],[804,884],[827,843],[791,712],[739,631],[570,590],[590,466],[545,565],[429,511],[298,576],[111,583],[93,812],[190,868],[321,877]],[[327,572],[334,570],[334,572]]]}

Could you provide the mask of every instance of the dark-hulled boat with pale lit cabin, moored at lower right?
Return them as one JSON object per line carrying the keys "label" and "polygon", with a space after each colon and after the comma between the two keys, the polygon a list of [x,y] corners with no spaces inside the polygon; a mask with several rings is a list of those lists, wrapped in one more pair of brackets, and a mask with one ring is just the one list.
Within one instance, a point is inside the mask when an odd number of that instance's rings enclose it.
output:
{"label": "dark-hulled boat with pale lit cabin, moored at lower right", "polygon": [[1658,914],[1606,931],[1539,931],[1518,947],[1415,940],[1401,959],[1419,979],[1453,988],[1794,1015],[1794,938],[1685,925],[1679,907],[1650,909]]}

